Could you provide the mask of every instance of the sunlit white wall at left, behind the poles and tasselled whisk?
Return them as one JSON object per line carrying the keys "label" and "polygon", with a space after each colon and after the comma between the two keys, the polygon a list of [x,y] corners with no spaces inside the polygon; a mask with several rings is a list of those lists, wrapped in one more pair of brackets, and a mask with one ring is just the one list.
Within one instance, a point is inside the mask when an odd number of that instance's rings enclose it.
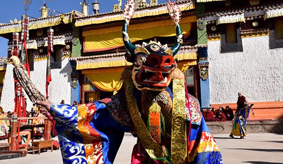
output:
{"label": "sunlit white wall at left, behind the poles and tasselled whisk", "polygon": [[[52,81],[49,84],[49,100],[54,104],[59,104],[62,99],[66,104],[70,104],[71,99],[71,87],[70,87],[70,73],[72,67],[68,61],[68,58],[62,59],[61,69],[51,69]],[[35,61],[34,71],[30,72],[30,78],[32,83],[44,94],[45,93],[45,81],[46,81],[46,60]],[[13,79],[13,66],[7,65],[2,98],[0,106],[4,111],[14,110],[14,79]],[[32,103],[27,98],[27,110],[30,111]]]}

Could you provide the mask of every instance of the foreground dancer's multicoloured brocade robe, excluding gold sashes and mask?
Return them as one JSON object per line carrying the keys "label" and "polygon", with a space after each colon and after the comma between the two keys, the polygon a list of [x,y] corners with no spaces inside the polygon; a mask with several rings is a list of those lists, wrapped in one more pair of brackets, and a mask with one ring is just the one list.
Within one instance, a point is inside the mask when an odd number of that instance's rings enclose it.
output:
{"label": "foreground dancer's multicoloured brocade robe, excluding gold sashes and mask", "polygon": [[[162,107],[164,125],[161,144],[170,152],[172,91],[138,91],[134,89],[141,117],[146,122],[147,108],[154,100]],[[188,95],[188,94],[187,94]],[[222,163],[220,150],[210,134],[200,112],[199,102],[186,98],[187,158],[185,163]],[[113,163],[125,132],[136,136],[123,92],[93,103],[51,106],[64,163]],[[172,142],[172,144],[175,144]],[[161,163],[139,156],[142,146],[135,146],[132,163]]]}

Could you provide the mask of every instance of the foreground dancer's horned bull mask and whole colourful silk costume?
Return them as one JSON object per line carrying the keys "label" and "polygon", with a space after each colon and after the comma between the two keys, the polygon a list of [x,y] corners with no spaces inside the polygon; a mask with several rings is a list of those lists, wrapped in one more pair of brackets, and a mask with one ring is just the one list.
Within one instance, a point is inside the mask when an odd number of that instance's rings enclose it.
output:
{"label": "foreground dancer's horned bull mask and whole colourful silk costume", "polygon": [[135,1],[124,8],[122,37],[126,60],[122,89],[89,104],[51,106],[64,163],[113,163],[125,132],[136,136],[132,163],[222,163],[220,150],[186,90],[185,76],[173,56],[183,43],[180,8],[168,1],[175,44],[133,45],[128,26]]}

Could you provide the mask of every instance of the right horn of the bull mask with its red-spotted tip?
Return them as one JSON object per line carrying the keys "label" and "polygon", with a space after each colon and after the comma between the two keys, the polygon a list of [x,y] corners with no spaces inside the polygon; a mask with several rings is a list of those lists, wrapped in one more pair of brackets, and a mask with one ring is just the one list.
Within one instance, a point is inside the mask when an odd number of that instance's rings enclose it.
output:
{"label": "right horn of the bull mask with its red-spotted tip", "polygon": [[174,23],[176,25],[175,44],[170,49],[173,53],[173,56],[174,56],[174,55],[177,54],[177,52],[179,51],[179,49],[181,48],[182,43],[183,43],[183,35],[182,35],[181,27],[179,25],[179,22],[180,22],[181,16],[182,16],[182,12],[181,12],[181,9],[179,8],[179,6],[176,5],[176,3],[174,3],[170,0],[168,1],[166,7],[167,7],[167,10],[168,10],[170,17],[172,18],[172,20],[174,21]]}

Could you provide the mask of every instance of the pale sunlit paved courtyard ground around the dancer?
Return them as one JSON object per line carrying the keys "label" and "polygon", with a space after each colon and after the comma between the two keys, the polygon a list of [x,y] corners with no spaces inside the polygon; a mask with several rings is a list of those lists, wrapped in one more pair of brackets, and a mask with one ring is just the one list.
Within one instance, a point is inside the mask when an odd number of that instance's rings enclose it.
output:
{"label": "pale sunlit paved courtyard ground around the dancer", "polygon": [[[214,135],[223,156],[223,163],[239,164],[283,164],[283,134],[248,134],[246,139],[231,139],[228,134]],[[3,142],[3,141],[2,141]],[[125,136],[115,159],[115,164],[130,163],[132,147],[136,139]],[[40,155],[28,154],[27,157],[0,160],[0,163],[38,164],[62,163],[59,150],[43,152]]]}

